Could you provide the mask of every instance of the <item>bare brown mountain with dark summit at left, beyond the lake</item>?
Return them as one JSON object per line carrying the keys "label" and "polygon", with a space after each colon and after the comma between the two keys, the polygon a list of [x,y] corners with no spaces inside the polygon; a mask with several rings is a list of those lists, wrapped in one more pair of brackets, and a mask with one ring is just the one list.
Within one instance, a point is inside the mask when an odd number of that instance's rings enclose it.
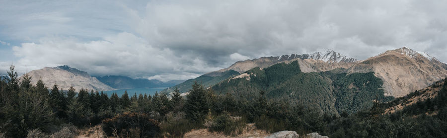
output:
{"label": "bare brown mountain with dark summit at left, beyond the lake", "polygon": [[114,90],[114,88],[100,82],[96,77],[90,76],[87,72],[70,68],[67,65],[55,68],[45,67],[43,69],[29,71],[28,74],[32,77],[33,84],[36,84],[41,78],[47,87],[58,84],[59,88],[63,88],[64,90],[68,90],[71,86],[76,91],[81,88],[98,91]]}

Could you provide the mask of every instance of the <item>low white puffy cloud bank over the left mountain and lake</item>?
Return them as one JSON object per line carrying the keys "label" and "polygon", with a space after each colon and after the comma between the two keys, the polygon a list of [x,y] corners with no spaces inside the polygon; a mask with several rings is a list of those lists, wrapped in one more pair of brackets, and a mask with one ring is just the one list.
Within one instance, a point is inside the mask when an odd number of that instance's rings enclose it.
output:
{"label": "low white puffy cloud bank over the left mountain and lake", "polygon": [[[17,66],[40,69],[69,65],[95,75],[127,75],[139,78],[169,72],[169,79],[182,79],[198,73],[213,71],[200,60],[184,55],[174,55],[169,49],[152,47],[146,40],[131,33],[119,33],[101,41],[80,43],[70,37],[50,37],[38,43],[23,43],[13,47],[19,57]],[[166,80],[162,79],[162,80]]]}

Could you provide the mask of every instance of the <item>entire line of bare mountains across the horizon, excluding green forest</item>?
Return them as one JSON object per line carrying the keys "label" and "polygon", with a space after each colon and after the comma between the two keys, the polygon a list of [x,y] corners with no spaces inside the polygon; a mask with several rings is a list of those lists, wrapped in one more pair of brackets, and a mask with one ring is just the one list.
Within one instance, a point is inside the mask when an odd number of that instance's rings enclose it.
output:
{"label": "entire line of bare mountains across the horizon, excluding green forest", "polygon": [[[293,62],[298,63],[299,71],[303,73],[331,71],[350,75],[353,73],[373,72],[373,75],[383,82],[380,86],[384,91],[383,95],[392,97],[402,97],[412,91],[425,88],[447,76],[447,64],[440,62],[427,53],[414,51],[407,47],[389,50],[366,60],[350,58],[332,50],[324,50],[312,54],[261,57],[238,61],[228,68],[208,72],[186,81],[172,80],[162,82],[116,75],[90,76],[85,71],[70,68],[66,65],[32,70],[29,72],[29,75],[34,78],[34,83],[41,77],[45,83],[56,83],[63,89],[74,86],[76,89],[86,88],[108,91],[171,86],[162,92],[172,92],[174,87],[178,87],[180,92],[187,92],[195,81],[202,83],[207,88],[212,88],[223,82],[228,83],[235,78],[245,78],[249,81],[251,75],[247,73],[249,70],[256,68],[263,70],[276,64],[284,63],[288,65]],[[286,81],[286,79],[283,81]],[[333,84],[330,83],[329,85]]]}

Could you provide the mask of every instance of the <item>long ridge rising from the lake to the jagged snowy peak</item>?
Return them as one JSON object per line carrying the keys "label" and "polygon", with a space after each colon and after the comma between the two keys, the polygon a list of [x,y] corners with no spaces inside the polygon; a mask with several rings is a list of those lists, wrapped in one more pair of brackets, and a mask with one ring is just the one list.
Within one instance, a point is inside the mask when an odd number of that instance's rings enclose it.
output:
{"label": "long ridge rising from the lake to the jagged snowy peak", "polygon": [[[278,63],[290,63],[297,61],[302,64],[301,69],[303,72],[312,71],[327,71],[335,68],[348,68],[353,63],[358,62],[357,59],[349,58],[340,53],[324,50],[322,52],[315,52],[313,54],[291,54],[277,57],[261,57],[259,59],[238,61],[228,68],[220,69],[217,71],[205,73],[194,79],[187,80],[174,87],[178,87],[180,92],[186,92],[191,89],[191,84],[194,81],[206,84],[205,87],[209,87],[218,83],[216,80],[224,80],[233,75],[245,72],[253,68],[267,68]],[[336,65],[331,65],[336,64]],[[219,79],[213,79],[219,78]],[[167,88],[163,91],[172,92],[174,87]]]}

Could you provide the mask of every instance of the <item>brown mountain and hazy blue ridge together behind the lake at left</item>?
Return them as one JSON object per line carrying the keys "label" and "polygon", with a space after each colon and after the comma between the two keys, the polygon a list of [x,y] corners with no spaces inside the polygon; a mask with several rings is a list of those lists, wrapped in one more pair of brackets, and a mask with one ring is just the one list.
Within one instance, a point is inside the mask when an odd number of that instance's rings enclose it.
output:
{"label": "brown mountain and hazy blue ridge together behind the lake at left", "polygon": [[33,78],[33,84],[36,84],[39,79],[42,79],[47,86],[57,84],[59,88],[64,90],[68,90],[71,86],[73,86],[76,90],[84,88],[97,91],[169,87],[184,81],[171,80],[162,82],[155,79],[133,79],[127,76],[117,75],[90,76],[85,71],[70,68],[67,65],[55,68],[45,67],[43,69],[32,70],[28,72],[28,75]]}

